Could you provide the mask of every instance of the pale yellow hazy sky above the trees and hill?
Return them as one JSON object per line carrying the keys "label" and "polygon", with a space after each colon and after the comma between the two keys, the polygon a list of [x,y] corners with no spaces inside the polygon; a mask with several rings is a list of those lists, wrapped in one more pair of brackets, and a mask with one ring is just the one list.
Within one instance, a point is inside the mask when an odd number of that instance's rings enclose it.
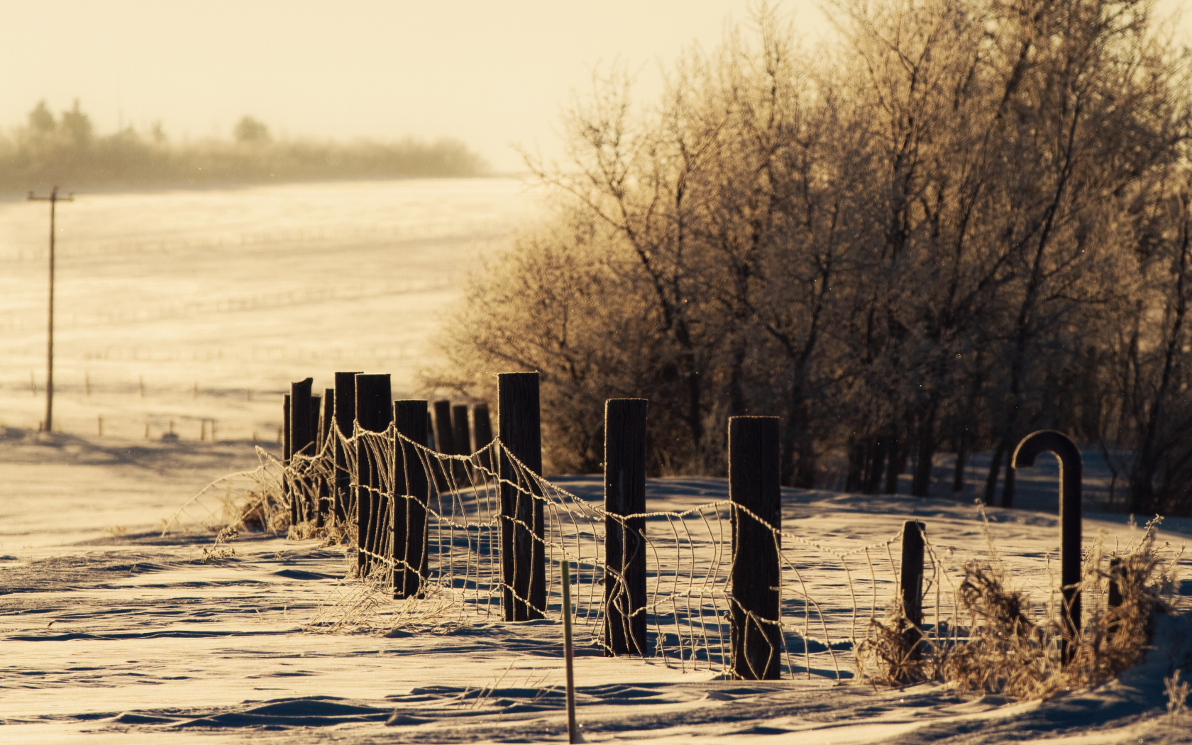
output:
{"label": "pale yellow hazy sky above the trees and hill", "polygon": [[[1163,0],[1178,7],[1180,0]],[[808,42],[814,0],[781,0]],[[0,0],[0,126],[38,100],[81,100],[101,132],[161,119],[172,137],[226,137],[243,114],[275,134],[457,137],[498,169],[520,142],[557,148],[560,105],[620,58],[639,91],[750,0]]]}

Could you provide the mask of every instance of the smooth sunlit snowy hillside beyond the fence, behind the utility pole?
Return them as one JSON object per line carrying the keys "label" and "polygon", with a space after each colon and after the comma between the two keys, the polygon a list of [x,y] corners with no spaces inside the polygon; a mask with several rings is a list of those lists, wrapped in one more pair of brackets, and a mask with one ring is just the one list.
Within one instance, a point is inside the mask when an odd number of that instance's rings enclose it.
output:
{"label": "smooth sunlit snowy hillside beyond the fence, behind the utility pole", "polygon": [[[533,204],[513,179],[80,194],[57,209],[54,429],[275,442],[290,380],[409,393],[436,316]],[[0,203],[0,426],[45,415],[48,212]]]}

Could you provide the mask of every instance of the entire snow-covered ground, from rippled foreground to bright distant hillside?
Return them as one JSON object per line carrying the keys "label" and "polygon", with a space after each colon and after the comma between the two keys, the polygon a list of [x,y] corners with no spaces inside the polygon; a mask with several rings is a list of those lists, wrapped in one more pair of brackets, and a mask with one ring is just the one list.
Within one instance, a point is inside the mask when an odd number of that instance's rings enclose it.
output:
{"label": "entire snow-covered ground, from rippled foreground to bright distant hillside", "polygon": [[[462,271],[532,209],[519,184],[502,180],[62,205],[56,432],[38,436],[44,205],[0,204],[0,741],[565,741],[557,615],[328,633],[312,621],[350,586],[349,552],[242,533],[229,544],[235,555],[210,560],[213,535],[161,535],[205,484],[255,466],[254,442],[277,452],[288,381],[313,375],[317,390],[335,370],[366,370],[391,372],[395,396],[409,392]],[[216,421],[216,441],[203,420]],[[180,439],[162,441],[170,422]],[[783,544],[831,611],[833,640],[848,635],[853,609],[868,619],[873,590],[881,613],[893,571],[884,554],[857,559],[873,566],[858,600],[820,554],[864,555],[915,517],[955,573],[986,551],[969,493],[981,464],[955,499],[783,491],[783,529],[822,547],[801,554]],[[946,497],[946,458],[937,465]],[[1091,486],[1107,478],[1094,457],[1087,471]],[[1041,459],[1020,474],[1028,509],[988,511],[1014,582],[1039,601],[1057,572],[1055,477],[1054,460]],[[552,482],[600,503],[600,477]],[[721,479],[652,479],[647,509],[726,497]],[[1087,545],[1124,547],[1142,534],[1124,515],[1087,517]],[[1160,542],[1192,535],[1188,521],[1165,527]],[[712,560],[703,553],[691,565]],[[1192,576],[1179,589],[1192,595]],[[384,619],[402,608],[377,610]],[[811,650],[801,623],[791,628],[788,644]],[[936,684],[874,690],[855,682],[851,646],[831,646],[794,677],[745,683],[662,658],[604,658],[582,642],[582,731],[589,741],[1192,741],[1192,720],[1165,716],[1162,683],[1175,666],[1192,677],[1186,617],[1163,619],[1156,648],[1122,679],[1045,703]]]}

